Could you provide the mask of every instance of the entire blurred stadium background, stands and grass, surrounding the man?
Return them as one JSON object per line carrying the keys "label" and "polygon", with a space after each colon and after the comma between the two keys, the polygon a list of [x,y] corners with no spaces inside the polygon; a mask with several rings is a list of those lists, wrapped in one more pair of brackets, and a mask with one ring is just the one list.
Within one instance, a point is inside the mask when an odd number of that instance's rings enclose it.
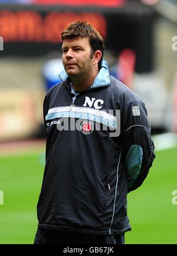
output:
{"label": "entire blurred stadium background, stands and grass, surrounding the man", "polygon": [[0,244],[32,244],[45,164],[42,102],[59,81],[60,33],[88,20],[112,75],[148,108],[156,159],[128,196],[126,244],[177,243],[177,1],[0,0]]}

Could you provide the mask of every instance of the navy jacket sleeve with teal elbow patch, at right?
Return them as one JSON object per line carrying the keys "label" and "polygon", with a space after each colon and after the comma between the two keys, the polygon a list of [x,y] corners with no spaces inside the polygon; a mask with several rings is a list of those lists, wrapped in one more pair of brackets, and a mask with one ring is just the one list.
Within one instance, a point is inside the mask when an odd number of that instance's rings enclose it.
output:
{"label": "navy jacket sleeve with teal elbow patch, at right", "polygon": [[123,111],[123,154],[126,163],[128,190],[142,185],[155,159],[155,147],[150,135],[151,127],[145,104],[132,101]]}

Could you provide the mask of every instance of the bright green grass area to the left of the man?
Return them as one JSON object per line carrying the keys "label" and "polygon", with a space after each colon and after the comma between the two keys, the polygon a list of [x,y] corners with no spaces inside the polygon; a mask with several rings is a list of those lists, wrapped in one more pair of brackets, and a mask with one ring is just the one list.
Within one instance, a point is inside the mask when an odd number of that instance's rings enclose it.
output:
{"label": "bright green grass area to the left of the man", "polygon": [[36,206],[44,171],[44,154],[0,158],[0,244],[32,244],[37,231]]}

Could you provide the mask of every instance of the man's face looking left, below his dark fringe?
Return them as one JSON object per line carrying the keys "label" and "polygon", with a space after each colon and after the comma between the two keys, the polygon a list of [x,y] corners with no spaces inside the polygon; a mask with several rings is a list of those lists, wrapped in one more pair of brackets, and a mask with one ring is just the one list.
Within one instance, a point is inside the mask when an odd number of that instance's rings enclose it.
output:
{"label": "man's face looking left, below his dark fringe", "polygon": [[90,57],[91,46],[88,38],[64,39],[62,50],[63,65],[70,78],[88,75],[92,71],[94,60]]}

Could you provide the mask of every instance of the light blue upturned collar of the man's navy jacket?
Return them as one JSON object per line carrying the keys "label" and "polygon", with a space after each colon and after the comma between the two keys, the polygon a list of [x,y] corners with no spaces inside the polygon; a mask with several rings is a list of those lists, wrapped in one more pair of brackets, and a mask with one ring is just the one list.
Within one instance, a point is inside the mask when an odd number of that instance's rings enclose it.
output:
{"label": "light blue upturned collar of the man's navy jacket", "polygon": [[[63,82],[67,81],[67,79],[69,78],[67,73],[65,72],[65,69],[60,72],[59,77]],[[110,85],[109,65],[106,60],[103,59],[101,62],[100,71],[94,79],[93,85],[90,87],[90,89],[104,87],[107,85]]]}

